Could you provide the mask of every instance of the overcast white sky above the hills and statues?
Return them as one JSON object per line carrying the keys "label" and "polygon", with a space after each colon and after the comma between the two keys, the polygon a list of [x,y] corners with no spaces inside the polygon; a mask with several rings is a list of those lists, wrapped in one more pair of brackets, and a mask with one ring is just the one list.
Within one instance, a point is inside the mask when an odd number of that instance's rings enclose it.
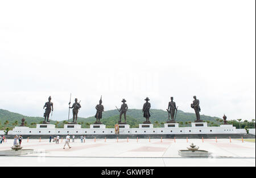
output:
{"label": "overcast white sky above the hills and statues", "polygon": [[255,1],[0,1],[0,108],[68,117],[105,110],[166,109],[255,118]]}

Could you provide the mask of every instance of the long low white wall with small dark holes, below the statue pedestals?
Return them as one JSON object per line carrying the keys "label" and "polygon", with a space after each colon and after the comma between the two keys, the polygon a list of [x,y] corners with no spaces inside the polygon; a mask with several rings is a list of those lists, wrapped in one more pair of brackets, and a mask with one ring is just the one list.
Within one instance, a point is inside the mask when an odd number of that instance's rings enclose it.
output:
{"label": "long low white wall with small dark holes, below the statue pedestals", "polygon": [[[243,129],[244,130],[244,129]],[[243,133],[237,131],[235,127],[220,126],[220,127],[184,127],[184,128],[129,128],[119,129],[119,134],[236,134]],[[254,129],[255,133],[255,129]],[[92,135],[92,134],[115,134],[114,128],[89,128],[89,129],[75,129],[75,128],[24,128],[15,127],[10,130],[10,135],[64,135],[64,134],[75,134],[75,135]]]}

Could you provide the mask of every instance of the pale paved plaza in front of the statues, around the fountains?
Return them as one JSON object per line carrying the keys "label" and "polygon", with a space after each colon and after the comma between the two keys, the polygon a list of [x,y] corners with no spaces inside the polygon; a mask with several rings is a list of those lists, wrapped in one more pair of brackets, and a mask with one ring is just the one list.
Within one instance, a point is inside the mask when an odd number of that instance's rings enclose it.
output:
{"label": "pale paved plaza in front of the statues, around the fountains", "polygon": [[[194,143],[201,150],[212,152],[210,158],[184,158],[178,150]],[[80,139],[71,141],[71,149],[63,149],[48,139],[23,140],[24,149],[34,149],[34,154],[0,156],[0,166],[253,166],[255,167],[255,142],[232,139]],[[0,145],[9,150],[13,139]]]}

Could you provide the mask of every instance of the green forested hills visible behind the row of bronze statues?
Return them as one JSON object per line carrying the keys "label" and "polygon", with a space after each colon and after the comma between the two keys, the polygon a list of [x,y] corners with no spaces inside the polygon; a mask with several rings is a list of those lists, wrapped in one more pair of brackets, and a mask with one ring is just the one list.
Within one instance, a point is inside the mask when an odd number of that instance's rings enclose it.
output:
{"label": "green forested hills visible behind the row of bronze statues", "polygon": [[[129,109],[130,112],[127,112],[127,122],[128,124],[131,125],[131,127],[138,127],[138,124],[141,124],[145,118],[143,117],[143,113],[141,109]],[[152,123],[158,122],[166,122],[168,120],[168,113],[166,111],[163,111],[162,109],[151,109],[151,117],[150,121]],[[4,109],[0,109],[0,127],[1,126],[9,126],[9,127],[14,127],[13,123],[15,121],[18,121],[18,125],[20,125],[21,119],[25,118],[27,125],[31,127],[35,127],[35,125],[30,125],[32,122],[35,122],[38,124],[39,122],[42,122],[44,120],[43,117],[29,117],[29,116],[24,116],[20,115],[19,113],[14,113],[10,112]],[[217,123],[216,119],[219,119],[218,117],[211,117],[211,116],[205,116],[201,115],[201,119],[209,122],[213,122],[214,124]],[[5,122],[9,121],[9,124],[4,124]],[[107,128],[113,127],[114,124],[119,120],[119,112],[117,109],[114,110],[109,110],[103,113],[102,115],[102,123],[106,125]],[[124,120],[122,118],[122,120]],[[177,116],[176,116],[176,121],[177,122],[193,122],[196,120],[196,115],[195,113],[187,113],[183,112],[181,110],[178,110]],[[96,118],[94,116],[87,117],[87,118],[82,118],[79,117],[77,119],[77,122],[79,122],[82,127],[88,128],[89,124],[93,124],[96,121]],[[50,120],[51,124],[55,124],[56,121]],[[63,121],[59,121],[59,124],[57,125],[58,127],[63,126]],[[16,125],[17,126],[17,125]],[[157,126],[157,125],[156,125]]]}

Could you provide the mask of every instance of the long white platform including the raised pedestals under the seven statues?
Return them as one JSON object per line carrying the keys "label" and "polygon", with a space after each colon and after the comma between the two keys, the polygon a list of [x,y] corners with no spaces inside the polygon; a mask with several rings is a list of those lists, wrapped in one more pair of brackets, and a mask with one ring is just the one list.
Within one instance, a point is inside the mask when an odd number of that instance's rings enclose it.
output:
{"label": "long white platform including the raised pedestals under the seven statues", "polygon": [[[191,123],[191,127],[179,127],[178,123],[164,124],[164,128],[154,128],[153,124],[139,124],[139,128],[119,125],[119,134],[124,135],[191,135],[191,134],[240,134],[245,130],[236,129],[233,125],[207,126],[206,122]],[[122,128],[123,127],[123,128]],[[255,133],[255,129],[254,129]],[[52,124],[38,124],[36,128],[16,126],[9,135],[115,135],[114,128],[106,128],[104,124],[92,124],[90,128],[81,128],[79,124],[66,124],[64,128],[55,128]]]}

